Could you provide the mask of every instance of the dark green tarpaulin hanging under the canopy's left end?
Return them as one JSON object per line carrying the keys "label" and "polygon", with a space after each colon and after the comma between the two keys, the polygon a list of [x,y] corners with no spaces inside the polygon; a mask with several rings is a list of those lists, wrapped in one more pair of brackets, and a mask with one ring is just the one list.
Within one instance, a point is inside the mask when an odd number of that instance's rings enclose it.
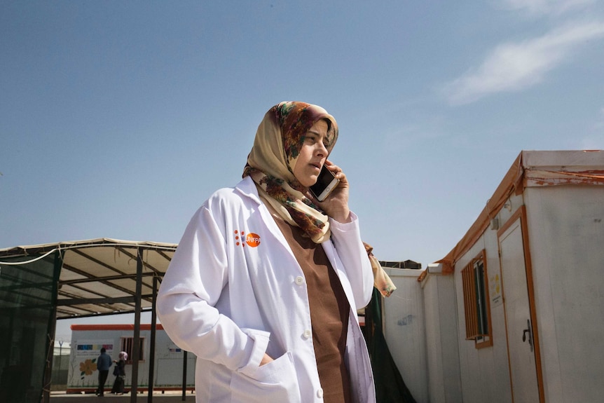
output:
{"label": "dark green tarpaulin hanging under the canopy's left end", "polygon": [[0,265],[0,402],[39,403],[52,355],[57,254],[3,259]]}

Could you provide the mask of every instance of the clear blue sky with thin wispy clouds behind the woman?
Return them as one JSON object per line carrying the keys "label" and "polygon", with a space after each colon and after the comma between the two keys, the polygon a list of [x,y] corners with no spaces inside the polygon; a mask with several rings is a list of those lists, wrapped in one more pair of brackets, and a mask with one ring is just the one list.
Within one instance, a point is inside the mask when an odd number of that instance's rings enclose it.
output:
{"label": "clear blue sky with thin wispy clouds behind the woman", "polygon": [[0,1],[0,248],[178,243],[273,104],[340,127],[382,260],[451,250],[523,149],[602,149],[604,4]]}

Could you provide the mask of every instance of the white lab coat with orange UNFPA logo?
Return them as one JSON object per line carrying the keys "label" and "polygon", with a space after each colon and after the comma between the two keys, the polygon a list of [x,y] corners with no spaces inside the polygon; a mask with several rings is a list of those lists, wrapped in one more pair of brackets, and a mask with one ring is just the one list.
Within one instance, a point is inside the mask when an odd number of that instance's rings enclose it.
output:
{"label": "white lab coat with orange UNFPA logo", "polygon": [[[352,391],[355,402],[371,403],[357,320],[357,307],[371,299],[371,264],[356,216],[330,222],[331,240],[322,245],[350,303]],[[249,177],[195,213],[163,278],[157,313],[170,339],[198,357],[198,403],[323,401],[304,274]],[[275,361],[260,367],[265,352]]]}

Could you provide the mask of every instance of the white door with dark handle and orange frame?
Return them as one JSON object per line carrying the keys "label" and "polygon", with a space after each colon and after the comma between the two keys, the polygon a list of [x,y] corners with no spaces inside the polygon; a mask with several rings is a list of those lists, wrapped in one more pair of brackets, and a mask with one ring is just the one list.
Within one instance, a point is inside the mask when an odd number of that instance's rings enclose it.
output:
{"label": "white door with dark handle and orange frame", "polygon": [[540,402],[520,217],[500,233],[499,248],[512,396],[515,403]]}

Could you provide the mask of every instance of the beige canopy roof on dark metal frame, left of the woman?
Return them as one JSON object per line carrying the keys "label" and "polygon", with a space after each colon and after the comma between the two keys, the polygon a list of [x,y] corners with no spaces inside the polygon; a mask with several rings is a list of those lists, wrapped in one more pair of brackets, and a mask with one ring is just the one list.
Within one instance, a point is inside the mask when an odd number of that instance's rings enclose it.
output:
{"label": "beige canopy roof on dark metal frame, left of the woman", "polygon": [[[177,244],[100,238],[0,250],[0,267],[22,266],[51,255],[62,261],[57,319],[135,312],[137,257],[142,262],[141,310],[150,310],[153,278],[162,278]],[[18,287],[14,293],[20,292]]]}

